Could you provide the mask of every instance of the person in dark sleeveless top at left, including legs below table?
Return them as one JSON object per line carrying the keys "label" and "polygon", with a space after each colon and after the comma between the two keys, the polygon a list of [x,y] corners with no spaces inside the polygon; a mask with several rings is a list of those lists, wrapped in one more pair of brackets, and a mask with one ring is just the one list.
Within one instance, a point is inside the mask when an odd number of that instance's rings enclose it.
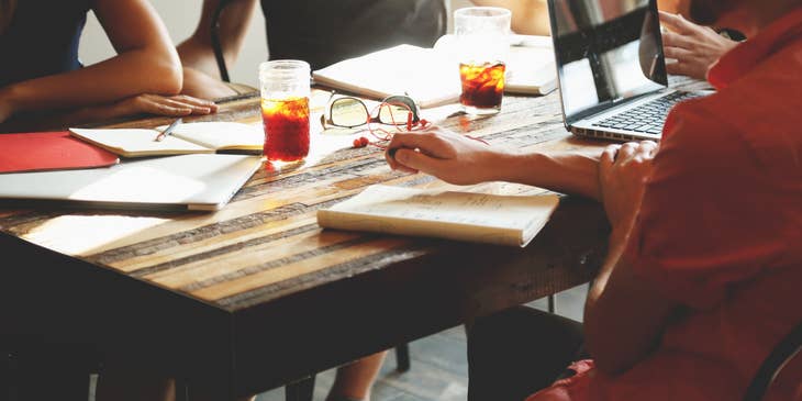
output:
{"label": "person in dark sleeveless top at left, including legs below table", "polygon": [[[89,11],[118,55],[82,66],[78,43]],[[212,102],[178,96],[181,87],[176,48],[146,0],[0,0],[0,132],[14,123],[30,126],[60,118],[99,121],[216,110]],[[11,349],[18,399],[87,400],[93,367],[86,349],[78,348],[32,344]],[[0,399],[5,400],[9,353],[0,355]]]}

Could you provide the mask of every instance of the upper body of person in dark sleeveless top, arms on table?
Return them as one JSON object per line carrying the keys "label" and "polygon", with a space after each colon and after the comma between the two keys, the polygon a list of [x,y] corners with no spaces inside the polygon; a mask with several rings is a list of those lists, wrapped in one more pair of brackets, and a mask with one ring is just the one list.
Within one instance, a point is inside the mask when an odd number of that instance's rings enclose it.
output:
{"label": "upper body of person in dark sleeveless top, arms on table", "polygon": [[[118,55],[82,66],[78,42],[90,10]],[[178,94],[178,54],[146,0],[0,0],[0,123],[53,111],[81,121],[216,110]]]}

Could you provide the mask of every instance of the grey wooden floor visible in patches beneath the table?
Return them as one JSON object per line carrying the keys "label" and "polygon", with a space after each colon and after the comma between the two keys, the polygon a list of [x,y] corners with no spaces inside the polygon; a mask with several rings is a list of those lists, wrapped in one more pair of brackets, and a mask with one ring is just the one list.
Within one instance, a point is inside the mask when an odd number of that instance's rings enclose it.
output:
{"label": "grey wooden floor visible in patches beneath the table", "polygon": [[[557,313],[581,320],[588,287],[580,286],[557,296]],[[546,301],[531,305],[545,310]],[[396,356],[389,353],[371,401],[465,401],[468,394],[466,337],[461,326],[410,343],[412,369],[396,372]],[[325,400],[334,370],[318,375],[314,401]],[[283,389],[260,394],[257,401],[283,401]]]}

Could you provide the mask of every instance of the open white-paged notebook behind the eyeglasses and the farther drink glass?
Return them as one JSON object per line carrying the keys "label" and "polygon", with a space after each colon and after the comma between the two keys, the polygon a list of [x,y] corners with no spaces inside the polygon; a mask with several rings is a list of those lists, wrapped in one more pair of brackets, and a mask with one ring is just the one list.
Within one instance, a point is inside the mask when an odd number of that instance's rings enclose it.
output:
{"label": "open white-paged notebook behind the eyeglasses and the farther drink glass", "polygon": [[[446,35],[434,48],[398,45],[315,70],[312,77],[316,83],[378,100],[406,93],[421,108],[454,103],[461,83],[453,42]],[[505,92],[545,94],[555,89],[549,38],[512,36],[505,63]]]}

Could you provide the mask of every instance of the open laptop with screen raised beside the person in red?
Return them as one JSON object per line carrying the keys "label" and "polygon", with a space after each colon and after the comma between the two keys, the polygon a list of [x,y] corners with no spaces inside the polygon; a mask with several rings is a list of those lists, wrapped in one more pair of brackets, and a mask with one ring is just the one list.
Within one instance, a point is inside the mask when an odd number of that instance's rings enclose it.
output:
{"label": "open laptop with screen raised beside the person in red", "polygon": [[655,0],[548,0],[548,10],[571,133],[656,141],[673,104],[710,93],[668,88]]}

